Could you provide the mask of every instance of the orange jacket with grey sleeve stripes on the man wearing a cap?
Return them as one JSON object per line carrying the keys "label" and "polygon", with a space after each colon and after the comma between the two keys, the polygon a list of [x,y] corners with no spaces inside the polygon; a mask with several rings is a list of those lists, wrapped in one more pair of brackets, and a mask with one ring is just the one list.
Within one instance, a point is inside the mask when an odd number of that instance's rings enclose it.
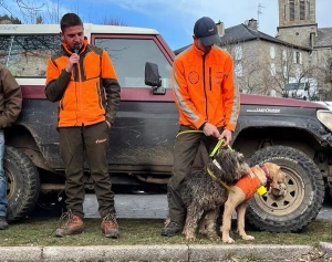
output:
{"label": "orange jacket with grey sleeve stripes on the man wearing a cap", "polygon": [[170,78],[180,125],[199,129],[208,122],[235,130],[240,97],[227,52],[212,46],[205,54],[193,43],[176,56]]}

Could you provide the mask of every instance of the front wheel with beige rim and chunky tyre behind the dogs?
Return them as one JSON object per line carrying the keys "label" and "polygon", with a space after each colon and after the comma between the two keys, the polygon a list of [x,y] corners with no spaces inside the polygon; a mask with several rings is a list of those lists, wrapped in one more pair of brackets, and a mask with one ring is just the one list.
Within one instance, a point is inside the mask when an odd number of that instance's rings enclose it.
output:
{"label": "front wheel with beige rim and chunky tyre behind the dogs", "polygon": [[287,195],[255,193],[246,219],[258,229],[271,232],[298,232],[319,213],[324,201],[324,181],[318,166],[302,151],[287,146],[271,146],[256,151],[250,165],[272,161],[287,176]]}

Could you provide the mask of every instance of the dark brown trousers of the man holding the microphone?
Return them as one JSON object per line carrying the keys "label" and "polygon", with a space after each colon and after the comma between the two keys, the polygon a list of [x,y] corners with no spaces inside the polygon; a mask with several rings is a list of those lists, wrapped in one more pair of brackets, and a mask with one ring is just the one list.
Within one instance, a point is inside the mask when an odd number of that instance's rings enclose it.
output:
{"label": "dark brown trousers of the man holding the microphone", "polygon": [[101,122],[90,126],[61,127],[60,156],[65,165],[66,208],[83,218],[84,189],[84,154],[94,181],[94,190],[98,201],[98,212],[105,217],[115,212],[114,193],[107,170],[108,126]]}

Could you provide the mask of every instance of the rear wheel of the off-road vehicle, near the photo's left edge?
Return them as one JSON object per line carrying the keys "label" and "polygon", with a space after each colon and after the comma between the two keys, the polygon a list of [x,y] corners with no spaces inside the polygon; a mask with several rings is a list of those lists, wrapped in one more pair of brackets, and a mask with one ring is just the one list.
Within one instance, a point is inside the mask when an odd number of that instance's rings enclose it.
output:
{"label": "rear wheel of the off-road vehicle, near the photo's left edge", "polygon": [[40,189],[39,174],[30,158],[6,147],[3,169],[7,176],[8,221],[25,218],[33,209]]}

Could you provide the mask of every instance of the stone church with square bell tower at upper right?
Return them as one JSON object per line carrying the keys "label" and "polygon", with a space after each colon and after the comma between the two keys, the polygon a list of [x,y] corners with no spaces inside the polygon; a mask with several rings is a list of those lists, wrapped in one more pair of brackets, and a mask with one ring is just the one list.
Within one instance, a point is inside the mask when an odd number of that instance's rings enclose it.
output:
{"label": "stone church with square bell tower at upper right", "polygon": [[319,28],[315,0],[279,0],[278,3],[277,38],[312,50],[309,62],[321,99],[332,99],[332,27]]}

